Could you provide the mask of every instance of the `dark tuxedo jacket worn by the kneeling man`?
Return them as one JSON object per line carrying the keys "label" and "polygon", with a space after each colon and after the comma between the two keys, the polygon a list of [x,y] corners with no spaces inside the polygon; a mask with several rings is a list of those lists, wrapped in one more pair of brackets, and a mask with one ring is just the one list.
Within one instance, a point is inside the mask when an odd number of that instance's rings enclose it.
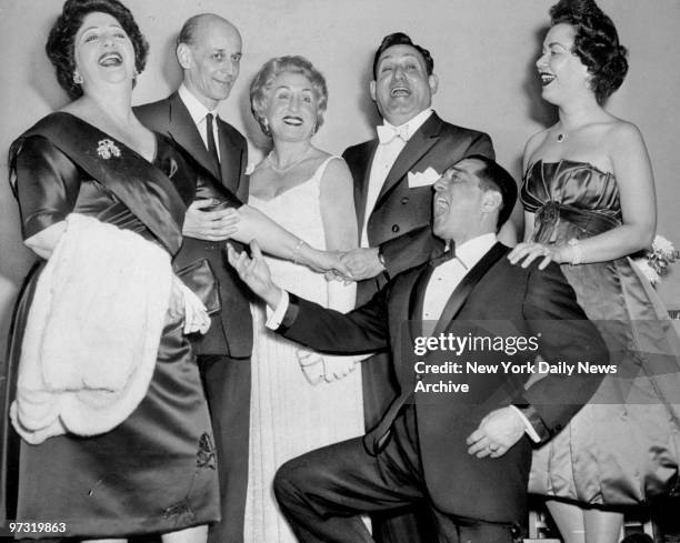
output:
{"label": "dark tuxedo jacket worn by the kneeling man", "polygon": [[[539,271],[536,265],[512,265],[509,249],[497,243],[453,291],[436,334],[456,336],[539,338],[546,361],[607,363],[600,334],[577,304],[576,294],[559,267]],[[484,261],[486,260],[486,261]],[[489,262],[492,262],[490,268]],[[414,362],[443,363],[452,352],[413,353],[413,341],[423,335],[422,300],[432,273],[430,263],[413,268],[390,281],[367,304],[348,314],[322,309],[291,296],[280,332],[320,351],[350,353],[389,349],[398,375],[396,402],[414,404],[426,484],[441,511],[487,522],[519,522],[526,513],[531,442],[524,435],[499,459],[468,454],[467,436],[490,411],[514,404],[523,409],[541,439],[561,430],[597,389],[601,376],[548,374],[526,388],[529,374],[430,373],[417,374]],[[477,284],[469,278],[481,274]],[[471,290],[466,293],[466,289]],[[452,310],[453,313],[447,312]],[[452,316],[451,316],[452,315]],[[533,352],[468,351],[460,362],[496,364],[509,361],[521,368]],[[467,383],[469,393],[414,393],[421,381]],[[389,428],[398,410],[388,409],[377,430],[364,436],[369,451],[380,443],[380,428]]]}

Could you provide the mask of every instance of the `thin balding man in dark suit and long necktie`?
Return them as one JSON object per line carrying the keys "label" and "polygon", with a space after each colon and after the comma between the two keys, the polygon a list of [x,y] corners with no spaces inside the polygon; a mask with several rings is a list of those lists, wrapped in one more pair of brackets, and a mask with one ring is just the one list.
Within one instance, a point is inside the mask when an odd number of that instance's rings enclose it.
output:
{"label": "thin balding man in dark suit and long necktie", "polygon": [[[209,541],[243,541],[252,320],[247,289],[224,262],[223,241],[232,233],[232,209],[211,209],[223,188],[248,200],[246,139],[217,112],[239,76],[241,36],[229,21],[212,13],[187,20],[177,42],[183,82],[169,98],[136,108],[148,128],[170,135],[204,170],[194,202],[187,212],[184,242],[176,259],[181,268],[206,258],[219,282],[222,308],[210,330],[193,342],[210,406],[216,439],[222,521],[211,526]],[[220,184],[221,183],[221,187]]]}

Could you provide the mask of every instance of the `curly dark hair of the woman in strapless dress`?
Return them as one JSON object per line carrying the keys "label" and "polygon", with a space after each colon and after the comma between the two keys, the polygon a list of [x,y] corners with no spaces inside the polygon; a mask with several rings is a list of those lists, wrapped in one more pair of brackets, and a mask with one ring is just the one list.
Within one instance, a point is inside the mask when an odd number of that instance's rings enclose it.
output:
{"label": "curly dark hair of the woman in strapless dress", "polygon": [[612,20],[593,0],[560,0],[550,8],[551,24],[573,27],[572,53],[592,76],[590,86],[599,103],[623,82],[628,72],[627,50],[619,43]]}

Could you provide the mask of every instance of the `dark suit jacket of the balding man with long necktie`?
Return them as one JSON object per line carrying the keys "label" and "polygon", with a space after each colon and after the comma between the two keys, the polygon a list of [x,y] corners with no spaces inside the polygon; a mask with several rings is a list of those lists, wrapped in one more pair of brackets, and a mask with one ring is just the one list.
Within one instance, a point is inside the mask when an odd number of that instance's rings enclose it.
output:
{"label": "dark suit jacket of the balding man with long necktie", "polygon": [[[220,145],[218,168],[177,92],[164,100],[137,107],[134,113],[146,127],[169,135],[184,148],[207,173],[199,177],[197,199],[214,197],[234,207],[248,200],[248,144],[237,129],[221,119],[217,120]],[[194,334],[194,349],[198,354],[250,356],[252,319],[247,298],[249,290],[227,263],[223,242],[186,237],[174,263],[179,269],[201,258],[208,259],[219,282],[222,311],[212,318],[206,335]]]}

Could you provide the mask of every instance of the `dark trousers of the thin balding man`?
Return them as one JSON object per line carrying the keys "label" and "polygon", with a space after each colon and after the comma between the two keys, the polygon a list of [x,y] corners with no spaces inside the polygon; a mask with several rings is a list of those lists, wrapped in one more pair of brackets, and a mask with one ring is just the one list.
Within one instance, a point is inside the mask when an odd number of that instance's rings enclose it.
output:
{"label": "dark trousers of the thin balding man", "polygon": [[220,512],[208,543],[243,543],[250,433],[250,359],[199,354],[199,372],[214,435]]}

